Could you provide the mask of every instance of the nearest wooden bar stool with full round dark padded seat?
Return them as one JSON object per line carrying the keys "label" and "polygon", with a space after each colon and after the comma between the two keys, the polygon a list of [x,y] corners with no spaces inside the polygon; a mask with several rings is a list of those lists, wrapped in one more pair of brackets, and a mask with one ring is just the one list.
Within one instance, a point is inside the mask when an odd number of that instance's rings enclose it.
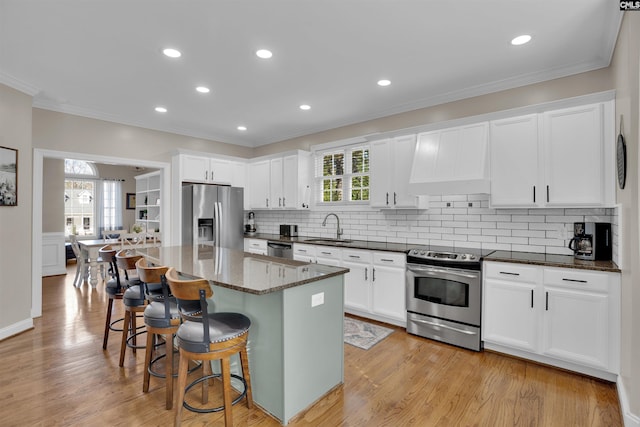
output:
{"label": "nearest wooden bar stool with full round dark padded seat", "polygon": [[[180,349],[180,363],[178,365],[178,394],[175,403],[174,425],[179,426],[182,407],[195,412],[218,412],[224,410],[225,426],[233,425],[232,405],[244,397],[247,407],[253,407],[251,394],[251,377],[249,374],[249,358],[247,356],[247,338],[251,320],[240,313],[209,313],[207,298],[213,296],[211,285],[205,279],[180,279],[174,268],[169,268],[165,274],[171,293],[178,301],[178,308],[183,323],[176,333],[178,348]],[[193,307],[189,301],[199,301],[198,307]],[[240,354],[242,377],[231,374],[231,356]],[[189,361],[201,360],[204,376],[187,387],[187,367]],[[211,374],[211,361],[220,361],[220,375]],[[207,369],[208,368],[208,369]],[[202,400],[207,401],[207,387],[209,379],[222,377],[222,395],[224,405],[211,409],[196,409],[184,401],[186,389],[202,383]],[[231,399],[231,377],[244,384],[244,390],[235,400]]]}

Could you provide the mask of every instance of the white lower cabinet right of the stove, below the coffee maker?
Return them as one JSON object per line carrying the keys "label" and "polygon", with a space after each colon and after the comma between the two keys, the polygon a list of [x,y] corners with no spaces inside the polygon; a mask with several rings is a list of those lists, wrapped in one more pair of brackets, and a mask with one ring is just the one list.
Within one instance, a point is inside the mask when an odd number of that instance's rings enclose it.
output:
{"label": "white lower cabinet right of the stove, below the coffee maker", "polygon": [[620,275],[485,262],[485,348],[615,381]]}

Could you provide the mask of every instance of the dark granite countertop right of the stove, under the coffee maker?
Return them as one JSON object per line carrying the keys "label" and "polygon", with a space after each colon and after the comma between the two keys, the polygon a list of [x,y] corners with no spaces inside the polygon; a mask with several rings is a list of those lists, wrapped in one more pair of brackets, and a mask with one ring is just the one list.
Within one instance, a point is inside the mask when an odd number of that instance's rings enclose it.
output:
{"label": "dark granite countertop right of the stove, under the coffee maker", "polygon": [[513,262],[518,264],[543,265],[547,267],[576,268],[581,270],[620,273],[613,261],[584,261],[573,255],[552,255],[533,252],[495,251],[485,256],[484,261]]}

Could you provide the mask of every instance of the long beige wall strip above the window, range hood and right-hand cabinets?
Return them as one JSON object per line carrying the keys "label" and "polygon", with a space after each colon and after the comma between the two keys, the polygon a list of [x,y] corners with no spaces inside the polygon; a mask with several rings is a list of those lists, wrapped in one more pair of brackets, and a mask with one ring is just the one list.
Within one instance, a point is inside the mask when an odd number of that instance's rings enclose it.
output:
{"label": "long beige wall strip above the window, range hood and right-hand cabinets", "polygon": [[315,144],[509,110],[610,89],[611,72],[609,68],[605,68],[264,145],[257,147],[253,155],[257,157],[292,149],[308,150]]}

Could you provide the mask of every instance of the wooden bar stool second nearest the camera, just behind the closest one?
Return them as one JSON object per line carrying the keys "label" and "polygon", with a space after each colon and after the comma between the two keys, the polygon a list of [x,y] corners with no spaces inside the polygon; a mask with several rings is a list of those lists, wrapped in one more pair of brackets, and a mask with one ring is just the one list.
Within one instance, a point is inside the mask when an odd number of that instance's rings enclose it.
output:
{"label": "wooden bar stool second nearest the camera, just behind the closest one", "polygon": [[[164,336],[165,341],[165,394],[167,409],[171,409],[173,405],[173,336],[180,326],[180,314],[178,313],[178,305],[175,298],[169,295],[169,286],[166,283],[164,274],[168,267],[151,267],[147,264],[147,260],[141,258],[136,262],[138,277],[143,283],[145,294],[149,298],[149,304],[144,309],[144,324],[147,327],[147,346],[144,358],[144,378],[142,383],[142,392],[149,391],[149,380],[152,373],[152,365],[158,360],[153,361],[151,357],[155,349],[155,337]],[[161,284],[162,291],[150,293],[148,291],[151,285]],[[161,375],[155,375],[161,376]]]}

